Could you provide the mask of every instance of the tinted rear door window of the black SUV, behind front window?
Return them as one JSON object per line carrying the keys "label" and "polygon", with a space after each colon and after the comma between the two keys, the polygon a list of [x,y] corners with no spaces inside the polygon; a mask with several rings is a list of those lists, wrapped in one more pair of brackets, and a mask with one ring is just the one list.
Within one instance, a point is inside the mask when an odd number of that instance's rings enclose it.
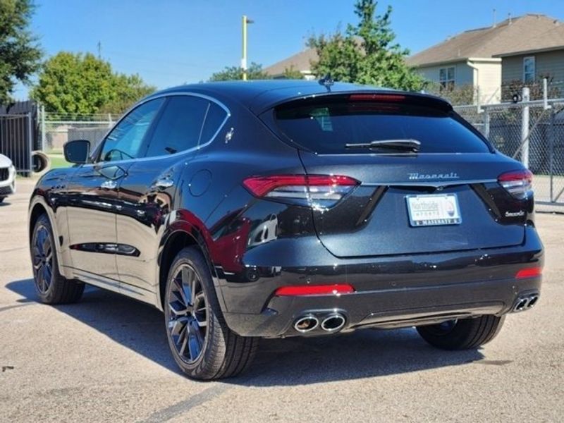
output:
{"label": "tinted rear door window of the black SUV, behind front window", "polygon": [[169,97],[151,136],[146,157],[174,154],[197,147],[209,101],[201,97]]}

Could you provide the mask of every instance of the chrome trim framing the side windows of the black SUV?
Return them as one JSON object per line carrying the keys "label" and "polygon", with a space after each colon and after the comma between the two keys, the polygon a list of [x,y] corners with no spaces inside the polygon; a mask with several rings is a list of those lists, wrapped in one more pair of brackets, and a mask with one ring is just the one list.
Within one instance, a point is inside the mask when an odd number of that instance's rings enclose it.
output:
{"label": "chrome trim framing the side windows of the black SUV", "polygon": [[[153,157],[137,157],[136,159],[125,159],[125,160],[116,160],[116,161],[97,161],[97,159],[99,159],[99,155],[102,153],[102,149],[104,148],[104,144],[106,143],[106,138],[108,137],[108,135],[133,110],[137,109],[137,107],[142,106],[143,104],[145,104],[147,102],[165,97],[164,103],[161,105],[161,108],[159,109],[157,116],[155,117],[154,121],[151,123],[151,126],[153,126],[154,122],[157,121],[157,118],[159,118],[162,111],[164,110],[164,106],[166,106],[166,103],[168,103],[168,98],[176,97],[176,96],[180,96],[180,95],[200,97],[202,99],[206,99],[209,102],[214,102],[215,104],[220,106],[221,109],[223,109],[226,112],[226,116],[223,119],[223,122],[221,122],[221,125],[219,125],[219,127],[217,128],[214,135],[212,135],[212,137],[207,142],[200,144],[200,140],[199,140],[198,145],[196,147],[192,147],[190,149],[185,149],[181,152],[174,153],[174,154],[162,154],[161,156],[153,156]],[[209,107],[208,107],[208,109],[209,109]],[[204,127],[206,117],[207,117],[207,113],[206,113],[206,116],[204,116],[204,121],[202,122],[202,128]],[[131,163],[133,161],[146,161],[146,160],[164,159],[164,158],[168,158],[168,157],[180,156],[182,154],[186,154],[186,153],[189,153],[189,152],[194,152],[196,150],[202,149],[202,148],[207,147],[208,145],[212,144],[212,142],[216,139],[217,135],[221,132],[221,130],[223,129],[223,126],[225,126],[225,124],[227,123],[229,118],[231,118],[231,110],[229,110],[228,107],[225,104],[223,104],[222,102],[220,102],[218,99],[214,99],[214,97],[210,97],[209,95],[206,95],[206,94],[200,94],[200,93],[197,93],[197,92],[188,92],[188,91],[187,92],[173,91],[173,92],[166,92],[166,93],[163,93],[163,94],[157,94],[157,95],[154,95],[152,97],[147,97],[146,99],[142,99],[142,101],[140,101],[140,102],[134,104],[133,106],[131,106],[130,109],[128,109],[128,111],[126,111],[123,114],[123,116],[121,116],[121,118],[119,118],[118,121],[116,121],[115,125],[113,125],[111,128],[109,128],[108,132],[106,132],[106,134],[104,135],[104,139],[102,140],[102,142],[100,142],[99,146],[96,149],[94,149],[94,152],[92,152],[92,154],[90,156],[90,159],[92,160],[92,162],[87,163],[87,164],[83,164],[82,166],[89,166],[89,165],[90,166],[103,166],[106,163],[107,164],[109,164],[109,163],[111,163],[111,164],[128,164],[128,163]],[[149,133],[151,129],[152,128],[149,128],[147,133]],[[145,136],[147,136],[147,134],[145,134]],[[201,135],[200,135],[200,137],[201,137]],[[145,142],[145,140],[143,140],[143,142]],[[148,147],[148,145],[147,145],[147,147]],[[146,152],[145,152],[145,154],[146,154]]]}

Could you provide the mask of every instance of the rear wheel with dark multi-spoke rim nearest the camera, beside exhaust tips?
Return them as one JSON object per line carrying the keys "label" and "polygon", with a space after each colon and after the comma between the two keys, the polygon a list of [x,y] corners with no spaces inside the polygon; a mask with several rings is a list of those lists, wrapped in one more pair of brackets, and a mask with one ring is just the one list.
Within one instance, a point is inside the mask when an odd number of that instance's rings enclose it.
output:
{"label": "rear wheel with dark multi-spoke rim nearest the camera, beside exhaust tips", "polygon": [[174,360],[192,379],[237,376],[255,357],[258,338],[238,336],[228,328],[209,266],[195,247],[181,250],[171,264],[164,317]]}

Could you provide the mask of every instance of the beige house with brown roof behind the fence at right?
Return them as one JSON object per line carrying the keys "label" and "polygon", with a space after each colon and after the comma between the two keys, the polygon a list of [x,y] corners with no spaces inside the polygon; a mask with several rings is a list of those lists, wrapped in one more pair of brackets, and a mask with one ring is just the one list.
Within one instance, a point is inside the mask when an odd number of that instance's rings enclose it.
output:
{"label": "beige house with brown roof behind the fence at right", "polygon": [[564,80],[564,23],[545,15],[508,18],[450,37],[407,63],[441,87],[472,87],[474,102],[500,102],[502,85],[515,80]]}

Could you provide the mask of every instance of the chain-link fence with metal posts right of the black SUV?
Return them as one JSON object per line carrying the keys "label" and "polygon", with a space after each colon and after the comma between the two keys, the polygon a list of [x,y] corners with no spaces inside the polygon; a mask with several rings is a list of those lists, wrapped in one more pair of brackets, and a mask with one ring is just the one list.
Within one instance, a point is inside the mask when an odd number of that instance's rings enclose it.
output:
{"label": "chain-link fence with metal posts right of the black SUV", "polygon": [[564,212],[564,99],[455,110],[503,154],[534,173],[537,209]]}

